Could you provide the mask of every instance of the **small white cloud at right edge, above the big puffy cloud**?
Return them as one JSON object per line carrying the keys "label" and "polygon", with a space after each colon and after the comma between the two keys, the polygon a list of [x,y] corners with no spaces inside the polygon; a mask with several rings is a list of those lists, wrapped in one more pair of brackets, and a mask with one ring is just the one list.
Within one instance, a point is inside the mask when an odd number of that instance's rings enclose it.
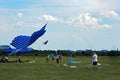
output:
{"label": "small white cloud at right edge, above the big puffy cloud", "polygon": [[113,10],[102,10],[100,15],[109,19],[120,19],[120,15]]}

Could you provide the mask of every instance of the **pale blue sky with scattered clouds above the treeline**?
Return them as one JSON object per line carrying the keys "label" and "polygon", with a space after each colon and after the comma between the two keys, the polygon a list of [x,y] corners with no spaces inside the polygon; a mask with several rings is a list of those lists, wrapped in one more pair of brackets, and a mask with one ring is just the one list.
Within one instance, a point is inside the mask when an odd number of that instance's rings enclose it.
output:
{"label": "pale blue sky with scattered clouds above the treeline", "polygon": [[[48,23],[46,33],[29,47],[120,49],[119,3],[119,0],[1,0],[0,45],[10,45],[19,35],[30,36]],[[46,40],[48,44],[44,45]]]}

